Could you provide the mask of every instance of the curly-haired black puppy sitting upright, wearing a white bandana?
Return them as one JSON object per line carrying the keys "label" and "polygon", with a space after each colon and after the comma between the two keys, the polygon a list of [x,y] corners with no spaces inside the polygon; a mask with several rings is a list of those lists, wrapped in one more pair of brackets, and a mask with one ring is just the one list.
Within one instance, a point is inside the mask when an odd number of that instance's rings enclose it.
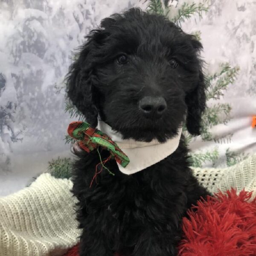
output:
{"label": "curly-haired black puppy sitting upright, wearing a white bandana", "polygon": [[[164,143],[186,122],[200,133],[205,84],[200,42],[165,17],[140,9],[112,15],[87,36],[68,74],[68,96],[87,122],[98,117],[124,139]],[[115,160],[90,182],[100,162],[97,151],[78,153],[73,193],[82,228],[81,256],[172,256],[181,221],[207,191],[189,169],[181,137],[177,150],[133,175]],[[100,151],[102,159],[109,152]]]}

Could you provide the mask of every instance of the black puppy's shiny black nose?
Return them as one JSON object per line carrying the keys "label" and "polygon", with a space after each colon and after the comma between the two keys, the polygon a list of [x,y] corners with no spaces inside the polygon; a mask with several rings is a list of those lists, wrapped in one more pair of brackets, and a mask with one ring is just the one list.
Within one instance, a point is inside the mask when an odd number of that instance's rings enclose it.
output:
{"label": "black puppy's shiny black nose", "polygon": [[139,108],[146,116],[160,117],[166,111],[166,100],[163,97],[145,96],[139,102]]}

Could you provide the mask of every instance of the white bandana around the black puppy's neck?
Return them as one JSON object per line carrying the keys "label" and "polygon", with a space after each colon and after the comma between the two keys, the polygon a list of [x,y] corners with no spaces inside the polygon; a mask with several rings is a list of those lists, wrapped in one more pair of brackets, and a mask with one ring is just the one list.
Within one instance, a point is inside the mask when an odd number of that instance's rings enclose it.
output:
{"label": "white bandana around the black puppy's neck", "polygon": [[98,129],[107,134],[119,146],[119,148],[129,157],[130,163],[125,168],[119,163],[120,172],[131,175],[160,162],[172,154],[178,147],[182,128],[179,128],[176,137],[160,143],[156,139],[151,142],[141,142],[137,140],[123,140],[119,132],[113,131],[105,122],[99,121]]}

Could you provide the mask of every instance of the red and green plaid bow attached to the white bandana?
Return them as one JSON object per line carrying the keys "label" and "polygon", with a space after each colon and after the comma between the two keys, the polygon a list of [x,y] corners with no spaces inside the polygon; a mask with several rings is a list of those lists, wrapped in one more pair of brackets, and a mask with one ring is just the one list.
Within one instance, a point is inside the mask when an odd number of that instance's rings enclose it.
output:
{"label": "red and green plaid bow attached to the white bandana", "polygon": [[79,140],[80,148],[84,149],[88,153],[101,146],[107,149],[111,157],[113,157],[117,163],[122,167],[126,167],[130,162],[128,156],[116,145],[116,143],[96,128],[92,128],[87,122],[72,122],[68,129],[70,137]]}

